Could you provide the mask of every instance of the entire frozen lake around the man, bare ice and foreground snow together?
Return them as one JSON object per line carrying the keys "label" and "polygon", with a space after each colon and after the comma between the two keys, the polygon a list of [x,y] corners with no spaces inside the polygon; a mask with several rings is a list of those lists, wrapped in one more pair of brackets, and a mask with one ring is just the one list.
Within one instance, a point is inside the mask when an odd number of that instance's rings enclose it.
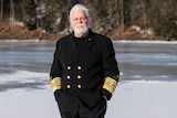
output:
{"label": "entire frozen lake around the man, bare ice and foreground snow together", "polygon": [[[60,118],[49,85],[54,45],[0,41],[2,118]],[[176,118],[177,43],[122,41],[114,47],[121,79],[106,118]]]}

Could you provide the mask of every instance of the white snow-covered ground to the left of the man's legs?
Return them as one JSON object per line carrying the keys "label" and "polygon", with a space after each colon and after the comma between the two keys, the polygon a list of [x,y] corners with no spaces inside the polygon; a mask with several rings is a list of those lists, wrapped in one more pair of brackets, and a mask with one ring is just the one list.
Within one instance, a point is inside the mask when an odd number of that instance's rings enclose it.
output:
{"label": "white snow-covered ground to the left of the man's legs", "polygon": [[0,96],[1,118],[59,118],[50,90],[15,89]]}

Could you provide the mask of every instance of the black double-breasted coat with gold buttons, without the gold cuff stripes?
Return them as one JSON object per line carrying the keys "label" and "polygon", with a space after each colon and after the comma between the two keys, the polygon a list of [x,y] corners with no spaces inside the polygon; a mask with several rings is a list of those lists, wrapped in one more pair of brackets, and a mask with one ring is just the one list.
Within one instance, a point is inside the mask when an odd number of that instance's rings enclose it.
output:
{"label": "black double-breasted coat with gold buttons, without the gold cuff stripes", "polygon": [[112,41],[91,30],[81,40],[80,49],[73,33],[56,42],[50,76],[61,77],[61,92],[72,93],[84,103],[96,103],[103,94],[110,98],[108,92],[102,93],[105,77],[119,74]]}

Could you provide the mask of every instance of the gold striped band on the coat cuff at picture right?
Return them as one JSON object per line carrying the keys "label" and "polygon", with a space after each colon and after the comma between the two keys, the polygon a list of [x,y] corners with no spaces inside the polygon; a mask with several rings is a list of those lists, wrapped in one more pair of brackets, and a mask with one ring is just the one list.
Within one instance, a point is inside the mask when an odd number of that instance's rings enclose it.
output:
{"label": "gold striped band on the coat cuff at picture right", "polygon": [[115,79],[113,79],[111,77],[106,77],[105,78],[103,88],[108,90],[112,95],[115,92],[116,86],[117,86],[117,81],[115,81]]}

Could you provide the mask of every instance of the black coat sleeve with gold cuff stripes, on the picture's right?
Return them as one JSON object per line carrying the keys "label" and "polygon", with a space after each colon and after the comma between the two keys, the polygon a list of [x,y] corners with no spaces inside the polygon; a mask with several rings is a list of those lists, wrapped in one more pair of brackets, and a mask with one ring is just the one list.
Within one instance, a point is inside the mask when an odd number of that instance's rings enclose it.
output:
{"label": "black coat sleeve with gold cuff stripes, on the picture's right", "polygon": [[104,43],[103,47],[103,68],[104,68],[104,84],[103,84],[103,96],[111,99],[112,95],[115,92],[115,88],[119,78],[119,71],[117,62],[115,60],[115,51],[113,47],[112,41],[108,39]]}

